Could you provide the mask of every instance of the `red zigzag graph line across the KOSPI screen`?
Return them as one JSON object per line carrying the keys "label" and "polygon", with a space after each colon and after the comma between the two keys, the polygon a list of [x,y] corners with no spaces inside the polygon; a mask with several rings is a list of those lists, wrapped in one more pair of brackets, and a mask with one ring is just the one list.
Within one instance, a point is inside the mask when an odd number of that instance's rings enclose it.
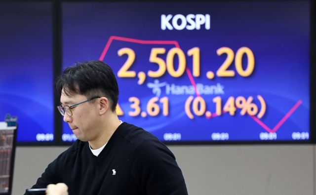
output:
{"label": "red zigzag graph line across the KOSPI screen", "polygon": [[[139,43],[139,44],[174,44],[176,47],[180,48],[179,43],[176,40],[140,40],[140,39],[130,39],[130,38],[124,38],[124,37],[117,37],[117,36],[111,36],[110,39],[108,40],[107,44],[105,45],[103,52],[99,58],[100,61],[103,61],[106,53],[109,50],[109,47],[112,43],[113,40],[121,40],[121,41],[126,41],[126,42],[134,42],[134,43]],[[197,90],[197,85],[196,82],[192,76],[191,71],[189,68],[186,68],[187,75],[190,79],[190,82],[192,86],[195,89],[195,92],[197,96],[200,96]],[[290,111],[276,124],[276,126],[273,129],[270,129],[265,123],[263,123],[259,118],[255,116],[250,116],[254,121],[256,121],[260,126],[262,126],[265,130],[267,130],[269,133],[274,133],[277,131],[277,129],[280,128],[280,126],[294,113],[294,111],[302,104],[302,100],[299,100],[291,109]],[[227,113],[223,111],[223,113]],[[212,117],[217,117],[218,115],[216,113],[213,113],[210,117],[207,118],[212,118]]]}

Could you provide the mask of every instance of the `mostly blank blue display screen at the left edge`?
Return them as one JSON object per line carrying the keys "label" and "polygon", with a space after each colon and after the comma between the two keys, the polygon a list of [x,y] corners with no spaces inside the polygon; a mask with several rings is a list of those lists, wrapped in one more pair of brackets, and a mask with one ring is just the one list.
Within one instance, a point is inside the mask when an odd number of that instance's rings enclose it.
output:
{"label": "mostly blank blue display screen at the left edge", "polygon": [[18,143],[54,140],[51,7],[0,3],[0,121],[18,117]]}

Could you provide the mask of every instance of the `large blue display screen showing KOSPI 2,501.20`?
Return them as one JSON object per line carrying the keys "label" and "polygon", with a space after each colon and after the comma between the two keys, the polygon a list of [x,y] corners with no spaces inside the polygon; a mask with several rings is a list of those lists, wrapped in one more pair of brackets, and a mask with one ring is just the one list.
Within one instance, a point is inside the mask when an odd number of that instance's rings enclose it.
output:
{"label": "large blue display screen showing KOSPI 2,501.20", "polygon": [[64,2],[62,16],[63,70],[110,65],[119,119],[161,141],[310,139],[309,1]]}

